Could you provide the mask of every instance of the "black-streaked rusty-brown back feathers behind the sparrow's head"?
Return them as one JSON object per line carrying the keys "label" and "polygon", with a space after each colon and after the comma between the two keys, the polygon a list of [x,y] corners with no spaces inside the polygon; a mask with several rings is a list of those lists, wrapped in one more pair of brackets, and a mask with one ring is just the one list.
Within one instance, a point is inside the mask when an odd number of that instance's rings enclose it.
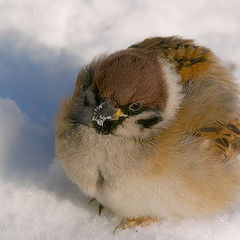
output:
{"label": "black-streaked rusty-brown back feathers behind the sparrow's head", "polygon": [[196,45],[193,40],[180,37],[154,37],[131,45],[129,48],[141,48],[158,53],[168,59],[179,74],[182,82],[208,71],[214,61],[214,54],[205,47]]}

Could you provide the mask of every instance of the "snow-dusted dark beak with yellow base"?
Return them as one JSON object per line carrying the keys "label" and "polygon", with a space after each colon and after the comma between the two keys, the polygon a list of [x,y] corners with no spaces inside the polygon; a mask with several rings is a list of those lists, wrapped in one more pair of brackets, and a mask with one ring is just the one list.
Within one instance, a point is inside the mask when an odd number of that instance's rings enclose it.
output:
{"label": "snow-dusted dark beak with yellow base", "polygon": [[106,100],[98,105],[93,113],[93,122],[97,122],[98,125],[103,126],[106,120],[119,120],[120,117],[127,117],[120,108],[115,108],[111,100]]}

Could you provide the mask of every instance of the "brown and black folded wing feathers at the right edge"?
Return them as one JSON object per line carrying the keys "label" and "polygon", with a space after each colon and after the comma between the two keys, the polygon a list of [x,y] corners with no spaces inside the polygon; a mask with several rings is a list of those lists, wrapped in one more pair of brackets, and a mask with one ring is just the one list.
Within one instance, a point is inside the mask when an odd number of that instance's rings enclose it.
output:
{"label": "brown and black folded wing feathers at the right edge", "polygon": [[208,141],[208,148],[227,161],[240,153],[240,116],[229,122],[216,121],[214,126],[198,129],[194,136]]}

